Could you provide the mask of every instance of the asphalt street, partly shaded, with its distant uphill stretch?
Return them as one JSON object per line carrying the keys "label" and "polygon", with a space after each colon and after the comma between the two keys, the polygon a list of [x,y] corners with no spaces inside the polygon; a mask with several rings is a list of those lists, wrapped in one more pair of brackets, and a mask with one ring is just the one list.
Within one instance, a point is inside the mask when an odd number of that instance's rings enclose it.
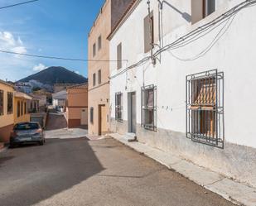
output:
{"label": "asphalt street, partly shaded, with its distant uphill stretch", "polygon": [[2,206],[233,205],[111,138],[52,138],[2,151],[0,170]]}

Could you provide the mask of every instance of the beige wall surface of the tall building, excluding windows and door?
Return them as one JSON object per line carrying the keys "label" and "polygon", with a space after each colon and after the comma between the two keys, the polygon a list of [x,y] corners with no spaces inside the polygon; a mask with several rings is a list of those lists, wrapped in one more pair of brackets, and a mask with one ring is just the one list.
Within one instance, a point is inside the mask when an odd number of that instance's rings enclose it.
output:
{"label": "beige wall surface of the tall building, excluding windows and door", "polygon": [[[109,36],[111,30],[111,1],[106,1],[102,12],[94,22],[89,33],[88,55],[93,60],[109,60]],[[101,36],[102,46],[98,50],[98,38]],[[96,43],[96,55],[93,56],[93,45]],[[89,62],[89,108],[94,108],[94,123],[89,122],[89,135],[99,134],[99,105],[104,104],[107,108],[106,115],[109,118],[109,62]],[[98,84],[98,71],[101,69],[101,84]],[[93,86],[93,74],[96,74],[96,84]],[[106,122],[109,130],[109,122]]]}

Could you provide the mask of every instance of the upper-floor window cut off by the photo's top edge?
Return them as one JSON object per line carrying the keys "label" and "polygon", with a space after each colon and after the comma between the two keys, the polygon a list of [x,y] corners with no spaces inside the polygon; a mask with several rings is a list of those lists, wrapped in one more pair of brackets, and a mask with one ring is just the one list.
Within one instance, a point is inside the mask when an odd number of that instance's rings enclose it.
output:
{"label": "upper-floor window cut off by the photo's top edge", "polygon": [[191,0],[191,22],[199,22],[201,19],[215,12],[215,0]]}

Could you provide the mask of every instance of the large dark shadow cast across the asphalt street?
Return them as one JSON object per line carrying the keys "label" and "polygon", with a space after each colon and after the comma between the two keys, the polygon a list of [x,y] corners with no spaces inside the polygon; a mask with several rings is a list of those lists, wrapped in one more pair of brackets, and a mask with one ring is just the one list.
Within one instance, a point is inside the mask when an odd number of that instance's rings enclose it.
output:
{"label": "large dark shadow cast across the asphalt street", "polygon": [[52,139],[0,155],[1,205],[38,204],[104,170],[86,138]]}

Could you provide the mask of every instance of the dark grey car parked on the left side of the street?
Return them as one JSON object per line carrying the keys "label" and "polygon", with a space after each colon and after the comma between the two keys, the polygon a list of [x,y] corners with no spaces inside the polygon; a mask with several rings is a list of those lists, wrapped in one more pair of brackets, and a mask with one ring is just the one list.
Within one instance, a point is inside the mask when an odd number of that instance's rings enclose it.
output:
{"label": "dark grey car parked on the left side of the street", "polygon": [[27,143],[39,143],[42,146],[45,142],[45,133],[38,122],[21,122],[13,127],[10,147]]}

